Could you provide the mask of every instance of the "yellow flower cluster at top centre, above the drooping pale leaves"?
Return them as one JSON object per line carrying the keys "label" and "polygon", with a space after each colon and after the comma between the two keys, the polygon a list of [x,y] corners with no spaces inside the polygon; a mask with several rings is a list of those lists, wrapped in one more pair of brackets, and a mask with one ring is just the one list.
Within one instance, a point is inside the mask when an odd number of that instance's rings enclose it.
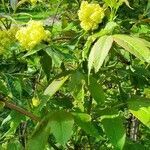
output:
{"label": "yellow flower cluster at top centre, above the drooping pale leaves", "polygon": [[104,9],[99,4],[89,4],[87,1],[83,1],[78,16],[84,30],[94,30],[104,18]]}

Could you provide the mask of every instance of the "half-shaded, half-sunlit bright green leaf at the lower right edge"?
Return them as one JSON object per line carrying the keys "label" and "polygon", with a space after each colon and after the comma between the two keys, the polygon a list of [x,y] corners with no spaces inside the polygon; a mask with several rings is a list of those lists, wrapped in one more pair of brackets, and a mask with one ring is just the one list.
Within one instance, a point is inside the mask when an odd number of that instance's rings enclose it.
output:
{"label": "half-shaded, half-sunlit bright green leaf at the lower right edge", "polygon": [[128,101],[129,111],[150,128],[150,99],[132,98]]}

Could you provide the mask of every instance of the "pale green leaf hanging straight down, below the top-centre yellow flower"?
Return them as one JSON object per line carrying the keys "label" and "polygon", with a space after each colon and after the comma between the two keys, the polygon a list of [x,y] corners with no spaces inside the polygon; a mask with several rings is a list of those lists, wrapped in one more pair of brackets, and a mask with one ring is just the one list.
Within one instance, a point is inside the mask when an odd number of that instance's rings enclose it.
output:
{"label": "pale green leaf hanging straight down, below the top-centre yellow flower", "polygon": [[112,43],[113,43],[112,36],[102,36],[94,44],[94,46],[91,49],[89,60],[88,60],[89,74],[92,68],[95,69],[95,72],[99,71],[106,56],[108,55]]}

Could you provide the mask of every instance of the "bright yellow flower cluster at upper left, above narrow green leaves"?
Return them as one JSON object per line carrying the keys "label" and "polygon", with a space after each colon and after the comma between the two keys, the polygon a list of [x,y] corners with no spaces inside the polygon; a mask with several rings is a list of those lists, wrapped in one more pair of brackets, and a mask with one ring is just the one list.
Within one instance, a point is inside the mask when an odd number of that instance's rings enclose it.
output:
{"label": "bright yellow flower cluster at upper left, above narrow green leaves", "polygon": [[45,40],[49,31],[44,30],[43,23],[40,21],[29,21],[26,27],[20,28],[16,33],[16,39],[21,46],[26,49],[32,49],[42,40]]}

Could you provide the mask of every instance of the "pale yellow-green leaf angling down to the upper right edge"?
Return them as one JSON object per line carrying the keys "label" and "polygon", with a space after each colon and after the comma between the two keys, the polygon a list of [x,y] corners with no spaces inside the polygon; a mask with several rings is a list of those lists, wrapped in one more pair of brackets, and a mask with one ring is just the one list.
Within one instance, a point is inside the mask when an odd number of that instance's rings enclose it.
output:
{"label": "pale yellow-green leaf angling down to the upper right edge", "polygon": [[129,51],[140,60],[150,63],[150,49],[148,48],[148,41],[123,34],[113,35],[113,38],[114,41],[125,50]]}

